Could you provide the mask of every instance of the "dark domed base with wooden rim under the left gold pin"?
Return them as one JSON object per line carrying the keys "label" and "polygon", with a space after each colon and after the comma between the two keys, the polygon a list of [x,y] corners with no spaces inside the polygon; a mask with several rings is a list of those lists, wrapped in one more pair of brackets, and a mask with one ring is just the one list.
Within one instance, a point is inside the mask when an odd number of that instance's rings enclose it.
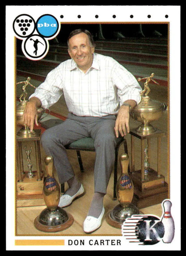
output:
{"label": "dark domed base with wooden rim under the left gold pin", "polygon": [[72,226],[74,218],[66,213],[62,208],[55,210],[45,208],[34,220],[34,226],[37,230],[43,232],[59,232]]}

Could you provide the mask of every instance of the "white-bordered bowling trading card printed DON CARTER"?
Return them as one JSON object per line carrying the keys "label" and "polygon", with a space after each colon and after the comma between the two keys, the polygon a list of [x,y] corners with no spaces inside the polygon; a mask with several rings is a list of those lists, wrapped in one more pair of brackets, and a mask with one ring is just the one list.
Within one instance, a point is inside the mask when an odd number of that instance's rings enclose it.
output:
{"label": "white-bordered bowling trading card printed DON CARTER", "polygon": [[6,6],[6,250],[180,251],[180,6]]}

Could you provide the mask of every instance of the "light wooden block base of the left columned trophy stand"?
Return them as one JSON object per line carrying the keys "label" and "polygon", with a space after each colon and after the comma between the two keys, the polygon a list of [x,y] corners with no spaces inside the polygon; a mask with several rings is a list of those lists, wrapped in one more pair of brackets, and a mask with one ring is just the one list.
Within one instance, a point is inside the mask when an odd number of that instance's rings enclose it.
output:
{"label": "light wooden block base of the left columned trophy stand", "polygon": [[43,198],[43,177],[38,180],[37,172],[33,172],[33,178],[28,178],[27,174],[23,177],[23,181],[17,182],[17,199],[38,199]]}

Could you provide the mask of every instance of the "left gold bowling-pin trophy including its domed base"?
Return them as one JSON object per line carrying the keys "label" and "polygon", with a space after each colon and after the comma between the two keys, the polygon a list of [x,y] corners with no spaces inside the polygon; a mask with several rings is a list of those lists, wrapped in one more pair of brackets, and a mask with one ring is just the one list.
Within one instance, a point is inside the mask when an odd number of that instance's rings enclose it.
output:
{"label": "left gold bowling-pin trophy including its domed base", "polygon": [[47,208],[45,208],[34,220],[36,229],[43,232],[59,232],[67,229],[73,224],[73,217],[63,208],[58,206],[60,200],[59,184],[53,176],[53,158],[45,158],[45,167],[47,178],[43,185],[43,199]]}

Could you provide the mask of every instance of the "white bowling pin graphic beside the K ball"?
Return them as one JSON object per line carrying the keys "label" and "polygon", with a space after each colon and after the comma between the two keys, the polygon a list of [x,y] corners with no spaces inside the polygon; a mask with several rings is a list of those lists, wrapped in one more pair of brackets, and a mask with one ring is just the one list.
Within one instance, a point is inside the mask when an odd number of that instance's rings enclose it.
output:
{"label": "white bowling pin graphic beside the K ball", "polygon": [[174,220],[171,215],[171,206],[172,203],[169,200],[165,200],[162,203],[164,212],[161,218],[161,222],[163,223],[165,229],[165,233],[162,239],[164,243],[171,243],[174,238]]}

